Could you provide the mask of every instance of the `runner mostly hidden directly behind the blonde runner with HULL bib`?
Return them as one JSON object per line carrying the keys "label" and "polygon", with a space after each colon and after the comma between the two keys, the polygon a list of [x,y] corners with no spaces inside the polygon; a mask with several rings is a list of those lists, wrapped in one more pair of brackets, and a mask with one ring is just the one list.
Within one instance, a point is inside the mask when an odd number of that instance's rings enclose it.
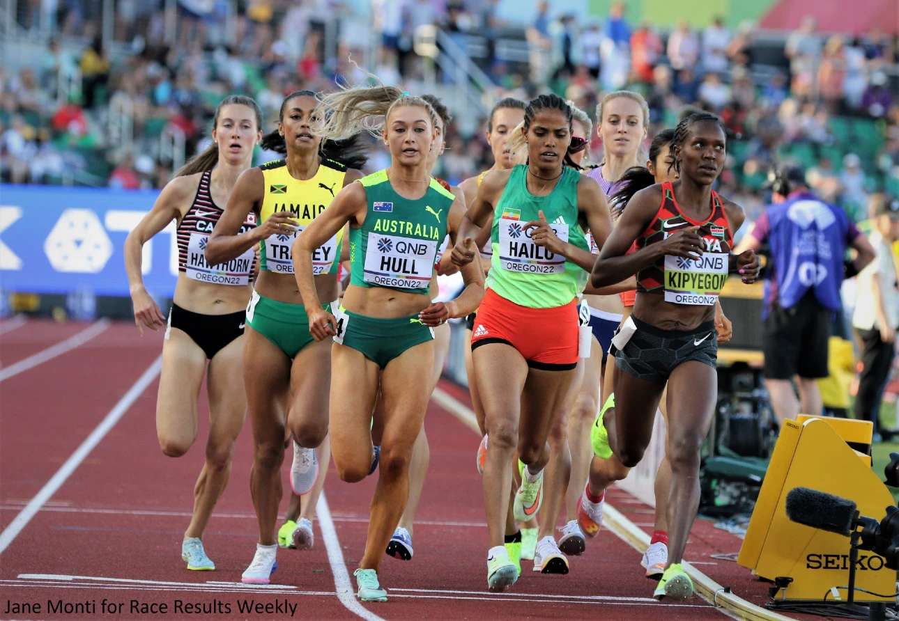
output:
{"label": "runner mostly hidden directly behind the blonde runner with HULL bib", "polygon": [[[437,122],[434,126],[435,136],[431,150],[428,152],[427,173],[430,176],[434,165],[437,164],[438,158],[443,155],[446,148],[445,130],[452,117],[449,110],[441,100],[433,95],[422,95],[425,102],[431,104],[431,107],[437,113]],[[456,187],[452,187],[449,183],[438,179],[444,190],[452,192],[453,196],[459,202],[465,203],[465,196],[462,191]],[[445,253],[449,243],[449,237],[444,238],[443,244],[438,251],[435,269],[438,273],[447,274],[455,271],[455,266],[449,261],[449,253]],[[437,279],[431,279],[431,288],[429,295],[432,300],[436,300],[440,291],[437,287]],[[434,327],[434,366],[431,377],[431,392],[437,386],[437,382],[441,378],[443,371],[443,363],[446,362],[447,354],[449,354],[449,324],[444,323]],[[383,412],[383,399],[378,398],[378,406]],[[377,416],[376,416],[377,417]],[[431,449],[428,447],[428,437],[424,433],[424,425],[415,439],[415,445],[412,450],[412,461],[409,463],[409,499],[405,502],[405,510],[399,519],[399,526],[396,527],[393,537],[390,537],[390,543],[387,544],[387,554],[394,558],[404,561],[412,559],[412,533],[415,521],[415,511],[418,510],[418,502],[422,498],[422,490],[424,488],[424,478],[428,474],[428,466],[431,463]]]}

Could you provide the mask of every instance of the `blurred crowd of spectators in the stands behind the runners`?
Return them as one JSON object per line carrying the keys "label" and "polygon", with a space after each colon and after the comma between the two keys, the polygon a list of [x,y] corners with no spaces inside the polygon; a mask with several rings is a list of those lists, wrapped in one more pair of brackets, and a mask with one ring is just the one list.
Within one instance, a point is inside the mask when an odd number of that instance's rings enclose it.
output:
{"label": "blurred crowd of spectators in the stands behind the runners", "polygon": [[[899,38],[878,31],[823,34],[811,18],[793,32],[720,19],[662,30],[634,22],[623,4],[585,22],[545,2],[513,24],[499,19],[497,0],[118,0],[111,15],[94,0],[13,4],[4,56],[17,62],[0,66],[4,182],[161,187],[209,139],[227,93],[253,96],[269,130],[284,94],[359,83],[360,67],[388,84],[423,84],[415,34],[437,25],[464,51],[485,44],[476,64],[494,100],[552,91],[593,116],[602,93],[627,88],[649,102],[649,138],[687,106],[716,112],[729,133],[722,191],[751,219],[770,166],[786,159],[857,220],[869,194],[899,195]],[[363,8],[368,42],[357,36]],[[503,38],[526,58],[494,55]],[[492,164],[483,122],[471,135],[450,124],[439,174],[458,182]],[[592,154],[595,163],[595,137]]]}

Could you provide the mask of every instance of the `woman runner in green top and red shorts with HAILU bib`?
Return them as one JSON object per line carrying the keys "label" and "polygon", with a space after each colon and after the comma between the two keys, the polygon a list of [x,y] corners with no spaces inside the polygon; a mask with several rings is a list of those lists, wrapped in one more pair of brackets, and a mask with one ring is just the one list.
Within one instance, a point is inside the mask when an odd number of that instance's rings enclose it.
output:
{"label": "woman runner in green top and red shorts with HAILU bib", "polygon": [[[472,338],[490,438],[484,495],[491,590],[504,590],[517,579],[503,546],[515,449],[525,467],[513,509],[524,521],[539,510],[547,435],[576,375],[575,297],[583,288],[583,271],[594,260],[583,231],[589,227],[601,244],[611,227],[599,184],[565,165],[572,130],[568,104],[556,95],[539,96],[528,104],[523,129],[530,164],[488,174],[460,233],[476,238],[494,214],[493,269]],[[457,243],[452,255],[464,265],[476,253]],[[553,537],[541,539],[537,553],[560,556]],[[566,571],[558,564],[541,571]]]}

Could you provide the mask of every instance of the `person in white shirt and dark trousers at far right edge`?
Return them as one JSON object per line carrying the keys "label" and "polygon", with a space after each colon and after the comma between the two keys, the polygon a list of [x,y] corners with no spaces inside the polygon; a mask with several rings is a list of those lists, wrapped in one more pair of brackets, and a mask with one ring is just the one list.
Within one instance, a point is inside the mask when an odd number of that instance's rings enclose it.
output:
{"label": "person in white shirt and dark trousers at far right edge", "polygon": [[878,195],[874,200],[874,232],[870,240],[877,254],[859,272],[852,324],[864,343],[855,417],[873,421],[877,433],[877,413],[893,364],[896,330],[899,330],[899,282],[892,247],[899,239],[899,199]]}

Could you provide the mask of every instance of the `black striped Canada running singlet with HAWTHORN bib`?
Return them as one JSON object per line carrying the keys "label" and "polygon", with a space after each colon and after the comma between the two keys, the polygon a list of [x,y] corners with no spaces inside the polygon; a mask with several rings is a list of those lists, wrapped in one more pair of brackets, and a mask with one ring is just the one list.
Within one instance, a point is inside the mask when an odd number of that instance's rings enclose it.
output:
{"label": "black striped Canada running singlet with HAWTHORN bib", "polygon": [[[193,199],[191,208],[182,217],[178,225],[178,271],[191,280],[212,282],[218,285],[247,285],[253,273],[256,254],[253,249],[246,251],[236,259],[209,265],[206,262],[206,244],[209,235],[221,217],[223,209],[212,200],[209,193],[209,178],[212,172],[200,175],[200,185]],[[256,226],[256,214],[252,211],[246,215],[240,232],[246,233]]]}

